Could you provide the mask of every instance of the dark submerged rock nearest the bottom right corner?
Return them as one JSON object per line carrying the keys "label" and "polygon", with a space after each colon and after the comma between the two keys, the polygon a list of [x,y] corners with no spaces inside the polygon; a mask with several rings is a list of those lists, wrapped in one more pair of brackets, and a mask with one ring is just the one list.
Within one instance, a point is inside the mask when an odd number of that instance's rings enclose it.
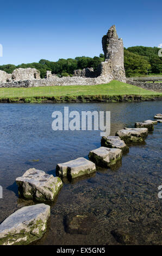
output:
{"label": "dark submerged rock nearest the bottom right corner", "polygon": [[122,245],[133,245],[134,244],[134,237],[123,230],[116,229],[112,230],[111,234],[114,236],[115,240]]}

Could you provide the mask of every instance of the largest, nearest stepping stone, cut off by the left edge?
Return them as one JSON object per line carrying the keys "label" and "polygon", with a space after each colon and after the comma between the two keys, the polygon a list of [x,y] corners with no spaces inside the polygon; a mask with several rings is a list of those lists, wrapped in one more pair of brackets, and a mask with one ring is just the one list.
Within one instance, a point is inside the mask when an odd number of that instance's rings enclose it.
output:
{"label": "largest, nearest stepping stone, cut off by the left edge", "polygon": [[0,225],[0,245],[28,245],[40,239],[47,228],[50,206],[24,206],[11,214]]}

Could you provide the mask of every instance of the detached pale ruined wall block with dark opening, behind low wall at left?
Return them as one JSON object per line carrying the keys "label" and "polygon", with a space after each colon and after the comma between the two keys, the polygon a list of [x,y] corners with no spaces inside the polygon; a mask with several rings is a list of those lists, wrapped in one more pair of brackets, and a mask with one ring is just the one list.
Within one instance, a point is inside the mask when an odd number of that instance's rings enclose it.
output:
{"label": "detached pale ruined wall block with dark opening, behind low wall at left", "polygon": [[40,71],[31,68],[18,68],[13,71],[12,78],[14,81],[40,79]]}

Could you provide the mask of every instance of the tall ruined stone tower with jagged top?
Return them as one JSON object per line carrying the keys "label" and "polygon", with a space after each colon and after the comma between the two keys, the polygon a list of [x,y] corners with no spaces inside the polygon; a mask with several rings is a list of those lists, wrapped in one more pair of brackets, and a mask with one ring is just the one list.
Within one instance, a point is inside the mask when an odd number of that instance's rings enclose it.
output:
{"label": "tall ruined stone tower with jagged top", "polygon": [[100,75],[111,76],[114,80],[126,82],[123,41],[118,38],[115,25],[111,26],[108,33],[103,36],[102,47],[105,62],[101,63]]}

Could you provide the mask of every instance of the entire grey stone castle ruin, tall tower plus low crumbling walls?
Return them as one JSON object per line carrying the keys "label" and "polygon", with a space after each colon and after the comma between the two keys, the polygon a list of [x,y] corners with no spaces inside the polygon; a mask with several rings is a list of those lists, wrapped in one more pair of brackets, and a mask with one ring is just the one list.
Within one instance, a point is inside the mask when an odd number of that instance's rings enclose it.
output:
{"label": "entire grey stone castle ruin, tall tower plus low crumbling walls", "polygon": [[40,72],[36,69],[19,68],[12,74],[0,70],[0,87],[91,85],[109,83],[111,80],[126,82],[123,41],[118,38],[115,25],[103,36],[102,47],[105,62],[98,66],[97,71],[93,68],[74,70],[73,77],[61,78],[47,71],[46,78],[40,79]]}

